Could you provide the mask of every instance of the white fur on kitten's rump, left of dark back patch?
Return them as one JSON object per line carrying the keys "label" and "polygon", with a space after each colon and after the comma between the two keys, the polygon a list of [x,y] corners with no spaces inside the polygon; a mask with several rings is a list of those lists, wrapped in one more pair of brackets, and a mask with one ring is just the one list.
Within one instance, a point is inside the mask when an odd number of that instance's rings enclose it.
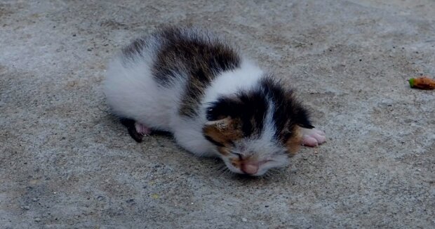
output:
{"label": "white fur on kitten's rump, left of dark back patch", "polygon": [[152,79],[150,63],[146,60],[127,64],[122,61],[117,58],[109,65],[105,81],[107,103],[112,112],[152,129],[170,131],[168,121],[176,113],[180,87],[161,88]]}

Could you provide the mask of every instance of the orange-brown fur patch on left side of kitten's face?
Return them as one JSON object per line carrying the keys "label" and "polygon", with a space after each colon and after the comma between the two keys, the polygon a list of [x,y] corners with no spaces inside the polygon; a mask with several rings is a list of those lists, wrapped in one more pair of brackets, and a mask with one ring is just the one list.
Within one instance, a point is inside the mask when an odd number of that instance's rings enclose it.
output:
{"label": "orange-brown fur patch on left side of kitten's face", "polygon": [[243,137],[241,121],[239,119],[231,119],[230,117],[209,122],[204,126],[203,133],[206,138],[219,147],[219,152],[222,155],[229,154],[227,148],[235,140]]}

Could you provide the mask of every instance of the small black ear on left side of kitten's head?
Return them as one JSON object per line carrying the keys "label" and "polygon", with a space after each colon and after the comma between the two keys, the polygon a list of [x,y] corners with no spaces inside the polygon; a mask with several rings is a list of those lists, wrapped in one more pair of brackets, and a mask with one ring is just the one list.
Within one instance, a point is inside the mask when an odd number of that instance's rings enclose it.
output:
{"label": "small black ear on left side of kitten's head", "polygon": [[207,120],[216,121],[226,117],[234,117],[239,113],[239,110],[240,106],[236,101],[229,98],[220,98],[216,102],[210,103],[210,106],[207,108]]}

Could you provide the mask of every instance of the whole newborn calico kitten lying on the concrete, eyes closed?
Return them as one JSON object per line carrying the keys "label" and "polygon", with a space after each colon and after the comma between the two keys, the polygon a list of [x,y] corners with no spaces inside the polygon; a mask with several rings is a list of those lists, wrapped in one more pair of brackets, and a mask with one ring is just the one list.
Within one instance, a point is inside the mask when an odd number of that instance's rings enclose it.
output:
{"label": "whole newborn calico kitten lying on the concrete, eyes closed", "polygon": [[136,122],[132,136],[169,131],[183,148],[221,157],[239,173],[286,164],[284,151],[297,150],[301,130],[308,145],[325,140],[308,130],[292,91],[201,30],[170,28],[134,41],[109,65],[105,93],[114,114]]}

